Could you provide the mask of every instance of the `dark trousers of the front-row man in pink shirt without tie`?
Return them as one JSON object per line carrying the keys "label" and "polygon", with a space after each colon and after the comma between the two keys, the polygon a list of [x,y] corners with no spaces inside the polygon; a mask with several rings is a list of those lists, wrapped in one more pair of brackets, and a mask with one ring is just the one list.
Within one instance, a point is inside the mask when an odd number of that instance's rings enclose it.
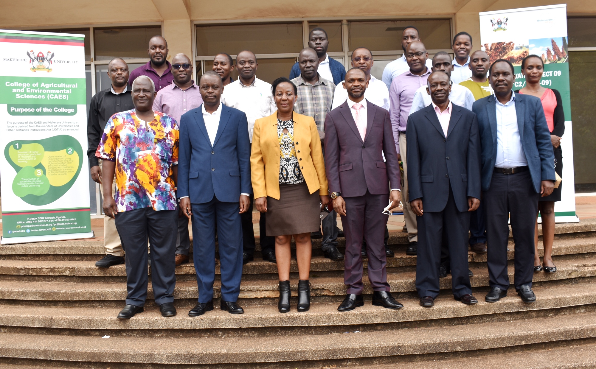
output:
{"label": "dark trousers of the front-row man in pink shirt without tie", "polygon": [[416,220],[418,223],[416,261],[418,296],[436,298],[439,295],[439,264],[443,243],[446,243],[449,249],[453,295],[460,298],[462,295],[472,293],[470,276],[468,276],[467,243],[470,213],[457,209],[451,187],[449,199],[443,211],[424,212],[424,215],[417,216]]}

